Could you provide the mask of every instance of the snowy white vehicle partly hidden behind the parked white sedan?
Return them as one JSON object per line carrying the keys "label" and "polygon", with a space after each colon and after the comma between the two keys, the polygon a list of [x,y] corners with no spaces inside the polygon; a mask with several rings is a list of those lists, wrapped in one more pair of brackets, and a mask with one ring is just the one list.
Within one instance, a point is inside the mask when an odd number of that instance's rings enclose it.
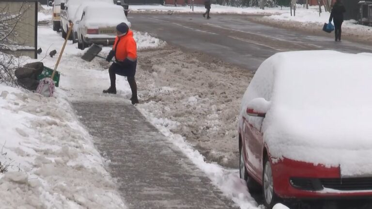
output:
{"label": "snowy white vehicle partly hidden behind the parked white sedan", "polygon": [[73,22],[74,27],[69,40],[73,40],[74,43],[78,42],[78,24],[76,24],[76,21],[80,20],[84,7],[94,5],[97,1],[113,4],[112,0],[66,0],[66,2],[61,3],[62,38],[66,38],[70,22]]}

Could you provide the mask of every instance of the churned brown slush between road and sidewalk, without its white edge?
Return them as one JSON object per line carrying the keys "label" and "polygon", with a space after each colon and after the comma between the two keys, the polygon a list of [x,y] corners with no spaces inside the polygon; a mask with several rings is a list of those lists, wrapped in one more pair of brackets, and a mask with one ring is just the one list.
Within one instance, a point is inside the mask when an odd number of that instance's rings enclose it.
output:
{"label": "churned brown slush between road and sidewalk, without its white edge", "polygon": [[[140,108],[164,121],[207,161],[237,168],[237,116],[252,73],[202,53],[171,47],[139,54]],[[164,123],[164,126],[169,126]]]}

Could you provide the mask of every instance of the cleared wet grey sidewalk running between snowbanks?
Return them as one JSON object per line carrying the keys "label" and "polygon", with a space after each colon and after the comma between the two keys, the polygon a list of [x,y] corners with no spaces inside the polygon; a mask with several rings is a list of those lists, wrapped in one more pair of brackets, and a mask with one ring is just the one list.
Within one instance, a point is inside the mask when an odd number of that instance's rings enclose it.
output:
{"label": "cleared wet grey sidewalk running between snowbanks", "polygon": [[[130,209],[228,209],[234,203],[212,185],[128,102],[75,102]],[[237,207],[236,207],[237,208]]]}

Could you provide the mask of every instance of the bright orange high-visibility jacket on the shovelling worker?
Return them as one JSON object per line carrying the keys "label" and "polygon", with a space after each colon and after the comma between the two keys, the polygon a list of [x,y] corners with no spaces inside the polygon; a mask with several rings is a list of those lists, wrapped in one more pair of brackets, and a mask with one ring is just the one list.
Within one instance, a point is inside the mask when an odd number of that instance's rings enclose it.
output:
{"label": "bright orange high-visibility jacket on the shovelling worker", "polygon": [[129,30],[124,36],[116,36],[112,50],[115,51],[115,59],[123,62],[125,58],[131,61],[137,60],[137,44],[133,38],[133,32]]}

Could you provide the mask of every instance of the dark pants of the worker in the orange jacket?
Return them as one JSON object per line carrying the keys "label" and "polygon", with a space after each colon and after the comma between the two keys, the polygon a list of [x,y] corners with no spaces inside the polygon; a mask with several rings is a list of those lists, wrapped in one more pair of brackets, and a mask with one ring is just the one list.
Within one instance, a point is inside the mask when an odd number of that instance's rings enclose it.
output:
{"label": "dark pants of the worker in the orange jacket", "polygon": [[118,63],[111,64],[109,68],[111,88],[116,89],[116,74],[125,76],[128,80],[130,90],[132,91],[132,98],[137,98],[137,83],[134,78],[136,75],[137,60],[129,66],[122,66]]}

